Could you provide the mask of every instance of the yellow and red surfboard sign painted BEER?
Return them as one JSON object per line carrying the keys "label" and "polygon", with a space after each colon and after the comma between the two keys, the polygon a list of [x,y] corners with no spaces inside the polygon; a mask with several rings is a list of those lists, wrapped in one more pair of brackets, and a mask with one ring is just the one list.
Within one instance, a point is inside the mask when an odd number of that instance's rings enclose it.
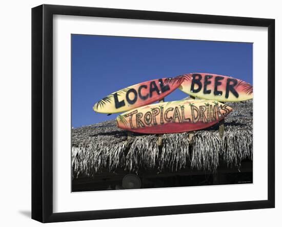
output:
{"label": "yellow and red surfboard sign painted BEER", "polygon": [[240,79],[209,73],[184,74],[183,77],[179,89],[194,97],[223,102],[253,98],[253,86]]}

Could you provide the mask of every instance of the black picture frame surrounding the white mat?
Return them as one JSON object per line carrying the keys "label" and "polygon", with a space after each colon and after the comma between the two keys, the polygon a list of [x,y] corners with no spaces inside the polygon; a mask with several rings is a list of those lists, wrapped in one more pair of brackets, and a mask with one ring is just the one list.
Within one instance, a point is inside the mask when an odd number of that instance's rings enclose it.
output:
{"label": "black picture frame surrounding the white mat", "polygon": [[[268,28],[268,199],[166,207],[83,212],[53,212],[53,15],[98,16],[170,22]],[[32,219],[77,221],[200,212],[274,208],[275,206],[275,20],[125,9],[41,5],[32,9]]]}

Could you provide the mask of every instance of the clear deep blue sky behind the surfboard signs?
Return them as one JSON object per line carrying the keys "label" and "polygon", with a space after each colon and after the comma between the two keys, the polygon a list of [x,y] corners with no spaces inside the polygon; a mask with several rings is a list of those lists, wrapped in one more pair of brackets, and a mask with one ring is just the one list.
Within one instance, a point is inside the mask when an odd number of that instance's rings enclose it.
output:
{"label": "clear deep blue sky behind the surfboard signs", "polygon": [[[184,73],[229,75],[253,83],[250,43],[72,34],[72,127],[115,119],[93,105],[139,82]],[[188,95],[175,90],[166,101]]]}

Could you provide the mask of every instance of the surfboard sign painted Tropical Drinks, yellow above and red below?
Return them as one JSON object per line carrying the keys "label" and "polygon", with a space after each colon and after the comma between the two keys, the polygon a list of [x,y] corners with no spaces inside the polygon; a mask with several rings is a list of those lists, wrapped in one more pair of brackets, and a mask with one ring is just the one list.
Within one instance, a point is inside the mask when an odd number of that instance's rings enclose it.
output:
{"label": "surfboard sign painted Tropical Drinks, yellow above and red below", "polygon": [[136,108],[117,116],[116,122],[117,127],[137,133],[181,133],[208,128],[231,111],[221,102],[188,99]]}

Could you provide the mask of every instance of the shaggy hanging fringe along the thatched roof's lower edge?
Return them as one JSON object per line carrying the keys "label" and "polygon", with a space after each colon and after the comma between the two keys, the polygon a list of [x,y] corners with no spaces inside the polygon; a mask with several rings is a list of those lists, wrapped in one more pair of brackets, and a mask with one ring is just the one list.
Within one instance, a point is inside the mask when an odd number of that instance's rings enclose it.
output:
{"label": "shaggy hanging fringe along the thatched roof's lower edge", "polygon": [[102,168],[110,172],[124,168],[136,173],[140,168],[177,171],[191,167],[215,171],[219,155],[228,166],[239,167],[242,160],[252,160],[252,132],[230,131],[223,139],[215,131],[195,132],[192,145],[188,133],[166,134],[160,151],[155,135],[138,136],[111,146],[93,143],[72,148],[72,168],[74,177],[80,174],[92,177]]}

